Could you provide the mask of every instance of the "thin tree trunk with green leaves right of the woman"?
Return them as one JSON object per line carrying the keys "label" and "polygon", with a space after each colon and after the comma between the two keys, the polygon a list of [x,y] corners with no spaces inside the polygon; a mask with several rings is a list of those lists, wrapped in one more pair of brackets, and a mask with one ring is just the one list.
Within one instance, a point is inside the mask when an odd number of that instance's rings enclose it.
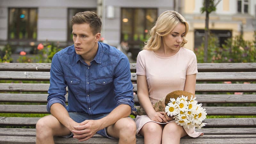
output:
{"label": "thin tree trunk with green leaves right of the woman", "polygon": [[207,52],[208,52],[208,37],[209,37],[209,14],[216,11],[216,6],[220,3],[218,0],[214,4],[214,0],[204,0],[204,6],[201,8],[201,13],[205,12],[205,28],[204,28],[204,62],[207,62]]}

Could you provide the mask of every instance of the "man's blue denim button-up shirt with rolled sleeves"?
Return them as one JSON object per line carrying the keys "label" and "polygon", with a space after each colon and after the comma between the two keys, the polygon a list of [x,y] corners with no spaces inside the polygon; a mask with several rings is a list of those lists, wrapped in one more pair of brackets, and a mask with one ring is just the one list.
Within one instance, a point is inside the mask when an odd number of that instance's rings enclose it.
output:
{"label": "man's blue denim button-up shirt with rolled sleeves", "polygon": [[[134,107],[128,58],[115,47],[98,42],[98,52],[88,66],[74,45],[52,58],[47,111],[60,103],[68,112],[89,115],[110,113],[120,104]],[[68,106],[65,104],[68,86]]]}

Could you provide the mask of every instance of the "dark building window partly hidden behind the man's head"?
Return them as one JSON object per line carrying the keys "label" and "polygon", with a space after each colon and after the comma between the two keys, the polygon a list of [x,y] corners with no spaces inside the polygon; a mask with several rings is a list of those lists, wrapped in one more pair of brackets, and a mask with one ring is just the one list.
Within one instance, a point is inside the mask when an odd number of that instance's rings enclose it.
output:
{"label": "dark building window partly hidden behind the man's head", "polygon": [[77,12],[84,12],[84,11],[91,11],[97,13],[96,8],[69,8],[68,9],[68,41],[73,42],[73,35],[72,35],[72,16],[74,16]]}

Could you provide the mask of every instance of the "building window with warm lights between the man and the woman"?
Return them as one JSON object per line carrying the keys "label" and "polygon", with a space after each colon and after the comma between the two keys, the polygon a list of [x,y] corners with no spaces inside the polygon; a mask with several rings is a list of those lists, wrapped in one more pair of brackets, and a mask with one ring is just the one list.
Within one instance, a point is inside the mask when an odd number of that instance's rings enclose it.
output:
{"label": "building window with warm lights between the man and the woman", "polygon": [[156,8],[122,8],[121,9],[121,42],[127,42],[133,59],[141,50],[148,32],[157,19]]}

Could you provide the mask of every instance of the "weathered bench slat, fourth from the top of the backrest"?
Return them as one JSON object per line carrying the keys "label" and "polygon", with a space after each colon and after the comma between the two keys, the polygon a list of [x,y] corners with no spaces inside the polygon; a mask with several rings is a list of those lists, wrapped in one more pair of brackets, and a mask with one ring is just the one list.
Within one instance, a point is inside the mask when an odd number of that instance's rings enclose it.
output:
{"label": "weathered bench slat, fourth from the top of the backrest", "polygon": [[[0,102],[38,102],[47,103],[48,94],[34,93],[0,93]],[[136,104],[139,104],[137,94],[133,95]],[[256,94],[196,94],[200,103],[256,103]],[[66,95],[68,102],[68,94]]]}

